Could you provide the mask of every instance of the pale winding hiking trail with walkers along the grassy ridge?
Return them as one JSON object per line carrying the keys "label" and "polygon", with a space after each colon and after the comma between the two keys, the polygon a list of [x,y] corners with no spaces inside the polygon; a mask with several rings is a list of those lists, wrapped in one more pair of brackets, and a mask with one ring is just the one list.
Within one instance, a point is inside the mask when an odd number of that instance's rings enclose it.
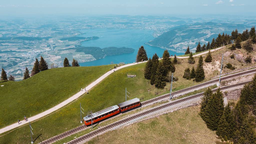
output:
{"label": "pale winding hiking trail with walkers along the grassy ridge", "polygon": [[[225,46],[224,46],[225,47]],[[210,52],[215,52],[216,50],[219,50],[219,49],[222,49],[224,47],[219,47],[219,48],[216,48],[216,49],[212,49],[210,50]],[[199,54],[196,54],[196,55],[193,55],[193,57],[196,57],[196,56],[200,56],[200,55],[204,55],[204,54],[207,54],[208,51],[206,52],[202,52],[202,53],[199,53]],[[180,57],[180,56],[177,56],[177,58],[188,58],[187,57]],[[133,66],[133,65],[136,65],[136,64],[141,64],[141,63],[146,63],[147,61],[143,61],[143,62],[139,62],[139,63],[132,63],[132,64],[126,64],[126,65],[123,65],[123,66],[120,66],[120,67],[117,67],[116,69],[112,69],[108,72],[106,72],[104,75],[102,75],[101,77],[99,77],[97,80],[93,81],[90,85],[88,85],[86,87],[86,90],[90,90],[92,89],[94,86],[96,86],[97,84],[99,84],[103,79],[105,79],[107,76],[109,76],[110,74],[112,74],[115,71],[121,69],[121,68],[125,68],[125,67],[129,67],[129,66]],[[30,118],[27,118],[28,120],[25,121],[25,120],[22,120],[20,121],[20,124],[18,124],[17,122],[12,124],[12,125],[9,125],[9,126],[6,126],[2,129],[0,129],[0,133],[4,133],[6,131],[9,131],[9,130],[12,130],[14,128],[17,128],[19,126],[22,126],[22,125],[25,125],[25,124],[28,124],[29,121],[34,121],[34,120],[37,120],[39,118],[42,118],[44,116],[47,116],[49,114],[51,114],[52,112],[64,107],[65,105],[69,104],[70,102],[72,102],[73,100],[76,100],[77,98],[79,98],[80,96],[82,96],[83,94],[85,94],[86,91],[83,89],[82,91],[79,91],[78,93],[76,93],[75,95],[71,96],[70,98],[68,98],[67,100],[61,102],[60,104],[44,111],[44,112],[41,112],[40,114],[37,114],[35,116],[32,116]]]}

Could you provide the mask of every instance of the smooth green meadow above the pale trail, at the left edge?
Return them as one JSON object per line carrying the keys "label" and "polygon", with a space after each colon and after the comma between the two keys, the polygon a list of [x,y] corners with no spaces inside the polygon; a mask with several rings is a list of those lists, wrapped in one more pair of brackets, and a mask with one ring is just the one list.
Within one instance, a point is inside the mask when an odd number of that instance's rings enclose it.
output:
{"label": "smooth green meadow above the pale trail, at the left edge", "polygon": [[41,71],[22,81],[1,81],[0,128],[66,100],[99,78],[111,66],[64,67]]}

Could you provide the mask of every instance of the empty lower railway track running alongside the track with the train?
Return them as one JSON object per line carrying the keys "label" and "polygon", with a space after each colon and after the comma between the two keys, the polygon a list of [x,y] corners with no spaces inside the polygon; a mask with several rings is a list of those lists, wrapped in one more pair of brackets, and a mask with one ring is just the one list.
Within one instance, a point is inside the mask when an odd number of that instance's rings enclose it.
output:
{"label": "empty lower railway track running alongside the track with the train", "polygon": [[[246,82],[243,82],[243,83],[240,83],[240,84],[234,84],[234,85],[230,85],[230,86],[225,86],[225,87],[222,87],[222,88],[220,88],[220,89],[223,90],[223,89],[228,89],[228,88],[231,88],[231,87],[241,86],[241,85],[247,84],[247,83],[249,83],[249,82],[250,82],[250,81],[246,81]],[[215,91],[217,91],[217,88],[215,88],[215,89],[212,90],[212,92],[215,92]],[[134,116],[132,116],[132,117],[123,119],[123,120],[121,120],[121,121],[114,122],[113,124],[110,124],[110,125],[108,125],[108,126],[105,126],[105,127],[101,128],[101,129],[94,130],[94,131],[92,131],[92,132],[90,132],[90,133],[88,133],[88,134],[86,134],[86,135],[84,135],[84,136],[82,136],[82,137],[79,137],[79,138],[77,138],[77,139],[74,139],[73,141],[68,142],[67,144],[75,144],[75,143],[81,142],[81,141],[86,140],[86,139],[88,139],[88,138],[90,138],[90,137],[93,137],[93,136],[95,136],[95,135],[98,135],[99,133],[101,133],[101,132],[103,132],[103,131],[105,131],[105,130],[111,129],[111,128],[115,127],[115,126],[118,126],[118,125],[121,125],[121,124],[123,124],[123,123],[125,123],[125,122],[128,122],[128,121],[130,121],[130,120],[132,120],[132,119],[135,119],[135,118],[138,118],[138,117],[141,117],[141,116],[150,114],[150,113],[155,112],[155,111],[157,111],[157,110],[160,110],[160,109],[163,109],[163,108],[166,108],[166,107],[169,107],[169,106],[178,104],[178,103],[180,103],[180,102],[184,102],[184,101],[187,101],[187,100],[190,100],[190,99],[194,99],[194,98],[197,98],[197,97],[201,97],[201,96],[203,96],[203,95],[204,95],[204,92],[201,92],[201,93],[199,93],[199,94],[196,94],[196,95],[193,95],[193,96],[189,96],[189,97],[185,97],[185,98],[183,98],[183,99],[176,100],[176,101],[174,101],[174,102],[170,102],[170,103],[168,103],[168,104],[164,104],[164,105],[162,105],[162,106],[159,106],[159,107],[150,109],[150,110],[148,110],[148,111],[142,112],[142,113],[137,114],[137,115],[134,115]]]}

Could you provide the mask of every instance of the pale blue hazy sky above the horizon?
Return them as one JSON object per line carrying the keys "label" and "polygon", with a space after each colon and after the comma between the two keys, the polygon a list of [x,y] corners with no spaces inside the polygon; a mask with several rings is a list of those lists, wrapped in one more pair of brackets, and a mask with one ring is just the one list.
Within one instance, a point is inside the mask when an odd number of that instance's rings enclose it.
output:
{"label": "pale blue hazy sky above the horizon", "polygon": [[255,15],[256,0],[2,0],[0,17],[26,15]]}

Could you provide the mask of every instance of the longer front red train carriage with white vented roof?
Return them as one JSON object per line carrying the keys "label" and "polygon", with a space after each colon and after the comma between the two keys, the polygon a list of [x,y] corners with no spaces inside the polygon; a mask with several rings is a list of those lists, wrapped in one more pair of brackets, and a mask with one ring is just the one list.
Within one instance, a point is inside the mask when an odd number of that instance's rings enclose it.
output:
{"label": "longer front red train carriage with white vented roof", "polygon": [[[120,113],[119,107],[117,105],[111,106],[109,108],[103,109],[101,111],[95,112],[91,115],[88,115],[84,117],[84,123],[85,125],[91,125],[95,122],[98,122],[100,120],[106,119],[108,117],[111,117],[113,115],[116,115]],[[92,120],[92,122],[91,122]]]}

